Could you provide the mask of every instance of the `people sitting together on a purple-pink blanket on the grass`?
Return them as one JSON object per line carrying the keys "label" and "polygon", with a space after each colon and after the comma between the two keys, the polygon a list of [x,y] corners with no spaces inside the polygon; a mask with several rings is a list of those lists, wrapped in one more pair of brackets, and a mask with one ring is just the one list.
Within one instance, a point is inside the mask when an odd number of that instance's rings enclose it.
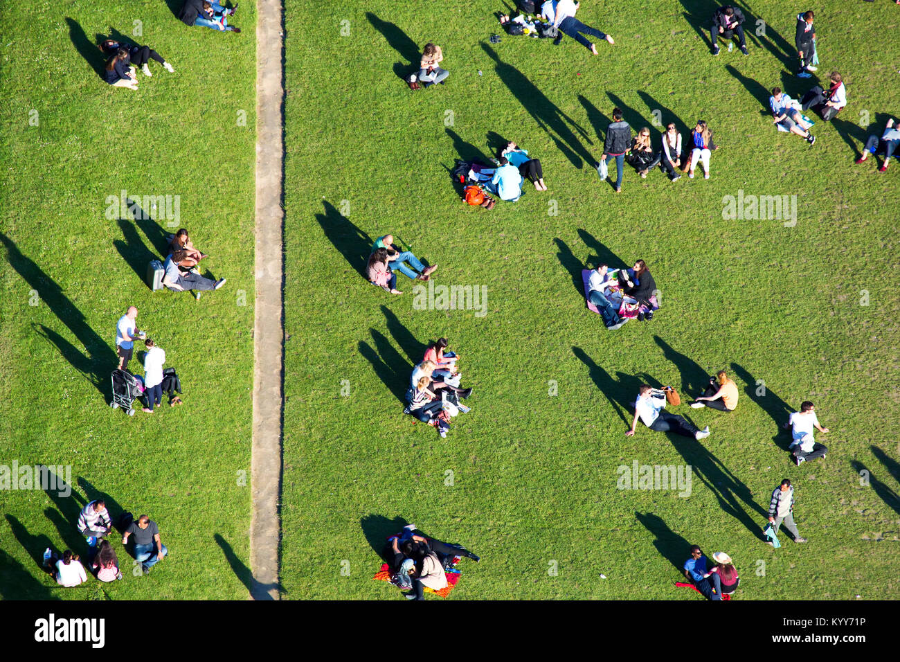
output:
{"label": "people sitting together on a purple-pink blanket on the grass", "polygon": [[587,284],[588,302],[597,307],[610,331],[631,319],[653,320],[653,311],[660,307],[656,292],[656,281],[643,259],[635,261],[632,268],[613,271],[601,264],[591,270]]}

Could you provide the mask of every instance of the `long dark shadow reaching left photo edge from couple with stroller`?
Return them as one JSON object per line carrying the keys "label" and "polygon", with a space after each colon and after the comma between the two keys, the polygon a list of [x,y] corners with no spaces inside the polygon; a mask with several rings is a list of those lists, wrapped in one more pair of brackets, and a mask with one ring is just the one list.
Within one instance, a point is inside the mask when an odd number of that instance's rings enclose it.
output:
{"label": "long dark shadow reaching left photo edge from couple with stroller", "polygon": [[99,384],[101,375],[108,378],[110,371],[116,365],[115,352],[110,349],[110,345],[91,329],[85,321],[85,316],[63,294],[62,287],[30,258],[26,258],[14,241],[3,232],[0,232],[0,243],[3,243],[6,249],[6,258],[16,273],[38,293],[40,301],[47,304],[50,312],[56,315],[59,321],[65,324],[85,347],[87,352],[87,364],[85,365],[90,367],[87,372],[94,376],[95,383]]}

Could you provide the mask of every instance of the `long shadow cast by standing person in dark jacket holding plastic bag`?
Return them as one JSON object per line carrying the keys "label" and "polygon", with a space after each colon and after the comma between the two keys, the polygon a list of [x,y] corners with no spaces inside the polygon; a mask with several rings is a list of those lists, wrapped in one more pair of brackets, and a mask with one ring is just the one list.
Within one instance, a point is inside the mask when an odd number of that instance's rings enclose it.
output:
{"label": "long shadow cast by standing person in dark jacket holding plastic bag", "polygon": [[590,156],[590,152],[585,149],[575,135],[575,131],[578,131],[585,141],[593,144],[581,125],[556,107],[521,71],[500,59],[500,56],[490,46],[482,43],[482,49],[494,60],[495,70],[503,84],[535,119],[537,125],[547,132],[547,135],[556,143],[557,148],[563,152],[572,165],[575,168],[581,168],[582,159],[591,165],[595,163],[596,159]]}

